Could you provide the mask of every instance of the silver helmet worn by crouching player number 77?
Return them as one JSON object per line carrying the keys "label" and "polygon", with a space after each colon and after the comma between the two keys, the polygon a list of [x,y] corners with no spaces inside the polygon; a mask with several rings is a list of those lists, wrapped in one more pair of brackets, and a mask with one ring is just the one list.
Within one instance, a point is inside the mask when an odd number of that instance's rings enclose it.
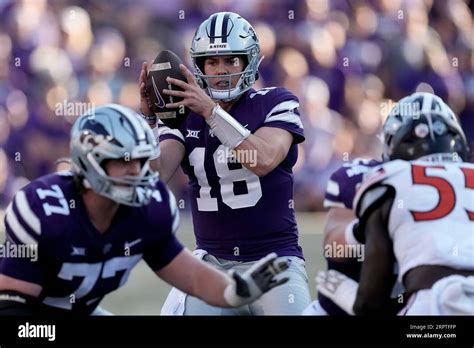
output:
{"label": "silver helmet worn by crouching player number 77", "polygon": [[[71,129],[72,171],[84,187],[120,204],[148,204],[158,173],[150,169],[150,160],[159,156],[153,132],[133,110],[108,104],[90,110]],[[104,169],[109,159],[140,159],[136,176],[112,177]]]}

